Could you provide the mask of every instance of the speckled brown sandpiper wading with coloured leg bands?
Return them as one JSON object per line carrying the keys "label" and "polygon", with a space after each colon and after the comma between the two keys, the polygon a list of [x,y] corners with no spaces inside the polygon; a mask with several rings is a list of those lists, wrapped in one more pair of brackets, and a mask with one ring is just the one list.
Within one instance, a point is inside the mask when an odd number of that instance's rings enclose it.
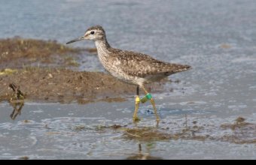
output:
{"label": "speckled brown sandpiper wading with coloured leg bands", "polygon": [[[70,40],[67,44],[78,40],[94,40],[99,56],[99,61],[103,67],[114,77],[123,80],[126,83],[132,83],[137,86],[135,110],[133,113],[133,121],[137,121],[137,113],[139,104],[151,101],[154,108],[154,114],[157,123],[160,118],[157,114],[157,108],[151,94],[145,89],[146,83],[155,82],[181,71],[190,69],[188,65],[170,64],[161,62],[149,55],[140,52],[131,52],[122,49],[112,48],[107,41],[105,30],[102,26],[93,26],[85,31],[85,34],[75,40]],[[139,98],[139,87],[145,92],[145,97]]]}

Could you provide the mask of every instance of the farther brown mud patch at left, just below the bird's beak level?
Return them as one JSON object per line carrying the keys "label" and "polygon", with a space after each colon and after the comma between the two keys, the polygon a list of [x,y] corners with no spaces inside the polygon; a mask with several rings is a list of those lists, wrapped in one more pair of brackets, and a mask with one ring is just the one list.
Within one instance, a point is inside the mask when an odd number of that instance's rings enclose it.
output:
{"label": "farther brown mud patch at left, just below the bird's beak level", "polygon": [[28,66],[67,67],[78,65],[75,58],[85,49],[70,48],[55,40],[14,37],[0,40],[0,68]]}

